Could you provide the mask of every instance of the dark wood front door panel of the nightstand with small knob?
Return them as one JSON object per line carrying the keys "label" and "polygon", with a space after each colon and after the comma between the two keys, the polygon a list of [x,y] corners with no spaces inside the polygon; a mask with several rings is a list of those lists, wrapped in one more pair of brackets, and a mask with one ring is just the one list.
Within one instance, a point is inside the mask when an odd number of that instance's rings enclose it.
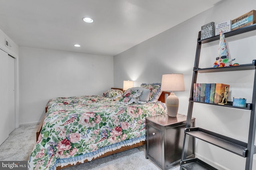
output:
{"label": "dark wood front door panel of the nightstand with small knob", "polygon": [[154,127],[148,126],[148,154],[162,165],[162,145],[161,145],[161,131]]}

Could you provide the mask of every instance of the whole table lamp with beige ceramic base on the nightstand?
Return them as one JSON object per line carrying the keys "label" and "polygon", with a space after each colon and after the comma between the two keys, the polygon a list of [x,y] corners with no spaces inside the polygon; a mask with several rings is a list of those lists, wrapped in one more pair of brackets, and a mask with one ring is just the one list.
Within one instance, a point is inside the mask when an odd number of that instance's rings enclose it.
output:
{"label": "whole table lamp with beige ceramic base on the nightstand", "polygon": [[166,98],[167,112],[170,117],[176,117],[179,108],[179,99],[173,91],[185,91],[183,74],[163,74],[161,90],[171,92]]}

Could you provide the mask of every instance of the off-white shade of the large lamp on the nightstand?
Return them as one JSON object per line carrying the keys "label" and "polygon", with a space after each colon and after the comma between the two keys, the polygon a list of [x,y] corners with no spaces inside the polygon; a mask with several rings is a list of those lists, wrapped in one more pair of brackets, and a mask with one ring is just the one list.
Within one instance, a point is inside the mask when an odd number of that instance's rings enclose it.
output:
{"label": "off-white shade of the large lamp on the nightstand", "polygon": [[185,91],[183,74],[163,74],[162,91]]}

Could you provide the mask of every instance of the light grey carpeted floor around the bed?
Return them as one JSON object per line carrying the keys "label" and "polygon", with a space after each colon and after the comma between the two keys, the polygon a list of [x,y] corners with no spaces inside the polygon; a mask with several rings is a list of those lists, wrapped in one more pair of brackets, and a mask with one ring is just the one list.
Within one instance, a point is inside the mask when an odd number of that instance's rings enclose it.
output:
{"label": "light grey carpeted floor around the bed", "polygon": [[[0,145],[0,160],[28,160],[36,143],[37,125],[22,125],[15,129]],[[99,158],[64,170],[160,170],[145,158],[145,145],[124,152]],[[179,166],[170,170],[180,170]]]}

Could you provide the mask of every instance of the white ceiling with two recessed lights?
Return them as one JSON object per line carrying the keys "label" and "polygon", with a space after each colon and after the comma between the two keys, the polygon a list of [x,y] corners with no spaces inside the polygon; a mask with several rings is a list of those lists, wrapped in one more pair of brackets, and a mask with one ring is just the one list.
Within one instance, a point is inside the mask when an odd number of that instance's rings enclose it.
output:
{"label": "white ceiling with two recessed lights", "polygon": [[0,0],[0,29],[18,46],[114,56],[219,1]]}

